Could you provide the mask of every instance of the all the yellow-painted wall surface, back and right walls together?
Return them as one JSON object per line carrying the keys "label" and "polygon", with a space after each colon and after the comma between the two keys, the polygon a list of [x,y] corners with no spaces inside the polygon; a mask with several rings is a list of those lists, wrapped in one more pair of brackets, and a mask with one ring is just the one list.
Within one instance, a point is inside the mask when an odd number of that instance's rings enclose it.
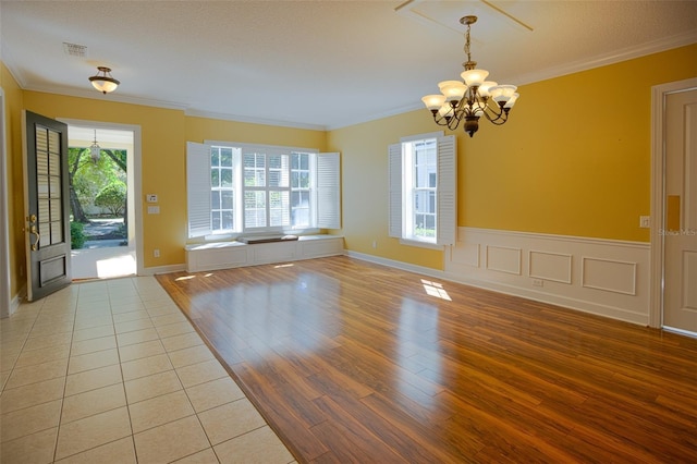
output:
{"label": "all the yellow-painted wall surface, back and right walls together", "polygon": [[[697,76],[696,56],[697,45],[692,45],[525,85],[504,126],[482,121],[472,139],[458,131],[458,224],[647,242],[648,230],[638,228],[638,217],[650,213],[651,86]],[[388,146],[405,135],[438,131],[425,109],[329,132],[309,131],[186,117],[180,110],[111,102],[109,97],[23,91],[4,65],[1,71],[11,147],[13,294],[24,280],[24,237],[17,234],[24,213],[22,109],[140,126],[143,194],[158,194],[161,210],[143,218],[146,267],[184,262],[185,142],[204,139],[341,151],[346,248],[443,267],[441,252],[388,237]],[[154,248],[160,249],[160,258],[152,257]]]}

